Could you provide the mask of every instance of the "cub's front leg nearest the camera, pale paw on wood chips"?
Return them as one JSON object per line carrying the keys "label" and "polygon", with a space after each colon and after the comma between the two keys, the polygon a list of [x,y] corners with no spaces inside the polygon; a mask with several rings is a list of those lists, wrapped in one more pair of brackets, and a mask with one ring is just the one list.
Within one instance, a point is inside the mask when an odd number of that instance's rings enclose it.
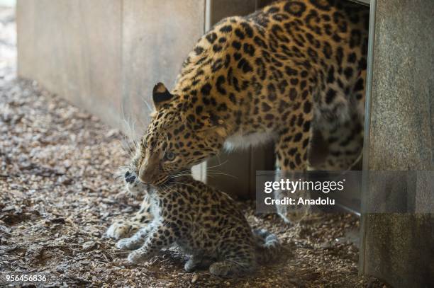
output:
{"label": "cub's front leg nearest the camera, pale paw on wood chips", "polygon": [[[149,260],[153,256],[157,255],[162,248],[167,248],[174,242],[173,231],[167,226],[152,225],[152,229],[146,236],[141,236],[141,239],[145,239],[143,246],[134,250],[128,255],[128,261],[130,263],[140,263]],[[123,239],[126,240],[126,239]],[[135,239],[134,243],[138,243],[138,239]]]}

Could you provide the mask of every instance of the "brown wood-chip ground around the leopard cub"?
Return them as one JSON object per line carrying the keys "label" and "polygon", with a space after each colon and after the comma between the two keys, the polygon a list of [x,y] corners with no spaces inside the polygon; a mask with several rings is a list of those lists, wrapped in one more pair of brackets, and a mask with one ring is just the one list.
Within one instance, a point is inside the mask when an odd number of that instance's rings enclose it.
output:
{"label": "brown wood-chip ground around the leopard cub", "polygon": [[128,265],[104,237],[113,219],[139,205],[116,197],[123,188],[113,172],[128,161],[123,134],[38,83],[15,79],[11,9],[0,8],[0,24],[1,272],[45,272],[44,287],[382,287],[357,276],[358,249],[348,240],[357,217],[313,215],[289,227],[255,215],[253,202],[242,204],[250,224],[273,231],[284,246],[281,260],[255,275],[186,273],[176,249]]}

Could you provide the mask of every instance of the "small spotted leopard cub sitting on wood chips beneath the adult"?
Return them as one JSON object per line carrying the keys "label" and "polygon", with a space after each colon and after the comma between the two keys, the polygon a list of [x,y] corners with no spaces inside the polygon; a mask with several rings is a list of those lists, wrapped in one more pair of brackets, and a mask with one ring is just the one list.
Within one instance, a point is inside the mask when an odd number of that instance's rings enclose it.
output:
{"label": "small spotted leopard cub sitting on wood chips beneath the adult", "polygon": [[152,217],[136,234],[116,244],[133,250],[128,255],[131,263],[148,260],[175,244],[190,255],[184,265],[187,272],[209,267],[213,275],[234,277],[254,271],[279,253],[277,236],[252,230],[235,201],[216,188],[191,176],[158,187],[140,183],[137,177],[134,181],[146,193]]}

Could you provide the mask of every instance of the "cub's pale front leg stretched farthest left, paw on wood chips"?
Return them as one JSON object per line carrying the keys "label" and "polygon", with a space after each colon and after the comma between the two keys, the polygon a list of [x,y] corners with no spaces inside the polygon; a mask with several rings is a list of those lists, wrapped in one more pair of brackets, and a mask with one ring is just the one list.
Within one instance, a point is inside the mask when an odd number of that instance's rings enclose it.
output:
{"label": "cub's pale front leg stretched farthest left, paw on wood chips", "polygon": [[140,206],[140,210],[134,215],[133,218],[126,219],[118,219],[111,224],[109,229],[107,229],[106,236],[109,238],[125,238],[135,231],[138,231],[143,226],[152,221],[152,214],[150,213],[150,202],[149,197],[145,196]]}

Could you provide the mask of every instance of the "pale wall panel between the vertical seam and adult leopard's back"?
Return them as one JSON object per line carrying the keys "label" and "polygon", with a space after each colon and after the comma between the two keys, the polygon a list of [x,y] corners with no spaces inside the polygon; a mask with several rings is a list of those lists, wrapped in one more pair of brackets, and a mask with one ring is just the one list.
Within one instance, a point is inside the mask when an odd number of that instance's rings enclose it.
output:
{"label": "pale wall panel between the vertical seam and adult leopard's back", "polygon": [[[152,88],[167,88],[204,34],[205,1],[123,0],[122,98],[127,115],[147,124]],[[142,123],[138,123],[142,125]]]}

